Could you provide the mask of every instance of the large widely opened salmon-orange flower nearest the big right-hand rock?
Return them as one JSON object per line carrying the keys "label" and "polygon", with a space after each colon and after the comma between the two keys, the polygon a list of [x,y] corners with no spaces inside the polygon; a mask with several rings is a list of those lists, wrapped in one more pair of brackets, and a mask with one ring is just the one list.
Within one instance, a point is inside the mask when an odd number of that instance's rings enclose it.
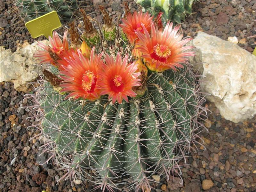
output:
{"label": "large widely opened salmon-orange flower nearest the big right-hand rock", "polygon": [[135,34],[140,42],[136,44],[137,49],[142,52],[143,60],[151,71],[161,72],[167,69],[182,68],[182,63],[186,63],[188,56],[193,56],[194,52],[187,51],[193,46],[184,46],[192,38],[183,38],[179,31],[180,26],[172,28],[172,23],[167,22],[164,30],[151,23],[151,34],[142,24],[145,33],[136,30]]}

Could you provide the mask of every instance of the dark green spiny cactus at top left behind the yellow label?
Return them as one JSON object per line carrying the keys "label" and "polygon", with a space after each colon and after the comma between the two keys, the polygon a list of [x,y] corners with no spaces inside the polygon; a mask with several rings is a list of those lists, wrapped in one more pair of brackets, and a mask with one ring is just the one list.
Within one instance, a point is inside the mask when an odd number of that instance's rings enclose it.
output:
{"label": "dark green spiny cactus at top left behind the yellow label", "polygon": [[60,20],[65,23],[72,20],[78,10],[76,0],[14,0],[14,4],[25,22],[56,11]]}

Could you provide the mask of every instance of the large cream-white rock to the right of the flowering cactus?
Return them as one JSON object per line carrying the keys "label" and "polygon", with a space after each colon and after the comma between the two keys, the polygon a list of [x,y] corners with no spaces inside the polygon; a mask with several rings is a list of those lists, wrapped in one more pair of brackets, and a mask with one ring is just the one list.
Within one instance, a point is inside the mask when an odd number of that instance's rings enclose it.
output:
{"label": "large cream-white rock to the right of the flowering cactus", "polygon": [[203,74],[201,88],[221,116],[235,123],[256,114],[256,57],[238,45],[198,32],[190,58]]}

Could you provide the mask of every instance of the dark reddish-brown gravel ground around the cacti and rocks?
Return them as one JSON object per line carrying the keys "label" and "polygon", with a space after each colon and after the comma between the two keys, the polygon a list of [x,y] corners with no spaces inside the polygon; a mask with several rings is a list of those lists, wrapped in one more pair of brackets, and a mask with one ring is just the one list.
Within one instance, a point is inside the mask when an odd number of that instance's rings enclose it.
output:
{"label": "dark reddish-brown gravel ground around the cacti and rocks", "polygon": [[[138,9],[134,1],[128,1],[132,11]],[[93,0],[82,6],[91,17],[102,21],[98,5],[104,5],[113,18],[123,14],[122,0]],[[96,9],[96,11],[95,11]],[[181,24],[184,34],[195,37],[198,31],[227,40],[236,36],[239,46],[252,52],[255,45],[256,2],[252,0],[201,0],[193,6],[193,14]],[[63,28],[59,29],[60,34]],[[32,39],[15,7],[6,1],[0,4],[0,46],[16,50],[17,44],[32,43],[43,39]],[[49,155],[40,154],[39,133],[29,127],[33,119],[31,112],[22,106],[30,106],[30,100],[23,100],[25,92],[17,92],[13,84],[0,84],[0,191],[7,192],[47,192],[91,191],[86,183],[75,185],[70,180],[57,180],[64,174],[51,162],[40,165]],[[208,192],[255,192],[256,191],[256,117],[243,123],[232,123],[220,116],[220,111],[211,103],[205,103],[212,114],[205,123],[209,133],[202,135],[205,150],[198,145],[199,152],[187,158],[183,166],[182,179],[176,175],[171,180],[162,179],[155,183],[151,191],[202,190],[202,184],[213,186]],[[185,162],[180,162],[185,164]],[[212,183],[211,183],[211,181]]]}

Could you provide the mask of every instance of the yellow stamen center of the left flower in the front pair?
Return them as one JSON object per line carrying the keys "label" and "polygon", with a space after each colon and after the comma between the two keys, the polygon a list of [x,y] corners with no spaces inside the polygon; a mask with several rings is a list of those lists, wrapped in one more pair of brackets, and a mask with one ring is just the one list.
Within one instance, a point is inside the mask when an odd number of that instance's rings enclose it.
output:
{"label": "yellow stamen center of the left flower in the front pair", "polygon": [[92,93],[94,92],[94,88],[96,86],[97,82],[97,77],[94,75],[92,71],[86,71],[83,74],[83,79],[82,79],[82,87],[84,91],[87,93]]}

